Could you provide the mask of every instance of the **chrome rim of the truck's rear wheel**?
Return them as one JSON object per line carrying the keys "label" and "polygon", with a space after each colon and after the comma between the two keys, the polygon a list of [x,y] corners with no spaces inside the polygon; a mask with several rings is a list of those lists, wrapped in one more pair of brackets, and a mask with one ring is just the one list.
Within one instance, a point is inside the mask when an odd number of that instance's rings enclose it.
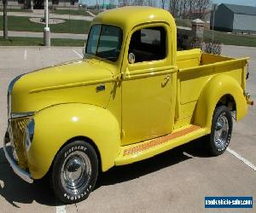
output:
{"label": "chrome rim of the truck's rear wheel", "polygon": [[229,130],[228,118],[224,115],[219,116],[214,131],[214,142],[218,150],[224,150],[227,147]]}

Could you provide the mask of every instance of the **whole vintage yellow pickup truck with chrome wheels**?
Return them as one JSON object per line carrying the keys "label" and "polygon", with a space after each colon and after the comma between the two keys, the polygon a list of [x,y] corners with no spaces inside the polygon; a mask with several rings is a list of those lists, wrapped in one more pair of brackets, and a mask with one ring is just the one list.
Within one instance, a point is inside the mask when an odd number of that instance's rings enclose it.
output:
{"label": "whole vintage yellow pickup truck with chrome wheels", "polygon": [[5,156],[23,180],[49,174],[61,201],[79,202],[114,165],[202,136],[209,153],[224,153],[231,114],[238,121],[253,104],[246,77],[247,58],[177,52],[167,11],[112,9],[92,21],[83,60],[9,83]]}

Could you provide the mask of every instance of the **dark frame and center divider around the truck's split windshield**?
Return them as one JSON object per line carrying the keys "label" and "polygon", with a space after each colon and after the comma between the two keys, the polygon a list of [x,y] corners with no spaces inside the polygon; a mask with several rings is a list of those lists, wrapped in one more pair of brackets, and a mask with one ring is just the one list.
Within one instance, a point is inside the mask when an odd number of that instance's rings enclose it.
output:
{"label": "dark frame and center divider around the truck's split windshield", "polygon": [[[89,45],[88,45],[88,44],[89,44],[88,41],[89,41],[89,38],[90,38],[90,32],[91,32],[91,30],[93,29],[94,26],[100,26],[99,37],[97,38],[97,42],[96,42],[96,53],[95,53],[95,54],[93,54],[93,53],[88,53],[88,51],[87,51],[88,46],[89,46]],[[103,26],[113,26],[113,27],[118,28],[118,29],[119,29],[119,32],[121,32],[120,41],[119,41],[119,47],[120,47],[120,48],[119,48],[119,51],[120,51],[120,52],[119,52],[118,57],[116,57],[116,60],[109,60],[108,58],[104,58],[104,57],[101,57],[100,55],[97,55],[97,49],[99,48],[99,43],[100,43],[101,37],[102,37],[102,27],[103,27]],[[119,27],[119,26],[114,26],[114,25],[96,23],[96,24],[90,26],[90,32],[88,33],[86,45],[85,45],[85,47],[84,47],[84,59],[88,58],[88,56],[89,56],[89,58],[90,58],[90,57],[96,57],[96,58],[99,59],[99,60],[107,60],[108,62],[111,62],[111,63],[114,63],[114,64],[117,63],[117,62],[119,61],[119,59],[120,59],[121,49],[122,49],[123,44],[124,44],[124,32],[123,32],[122,28]],[[86,56],[87,56],[87,57],[86,57]]]}

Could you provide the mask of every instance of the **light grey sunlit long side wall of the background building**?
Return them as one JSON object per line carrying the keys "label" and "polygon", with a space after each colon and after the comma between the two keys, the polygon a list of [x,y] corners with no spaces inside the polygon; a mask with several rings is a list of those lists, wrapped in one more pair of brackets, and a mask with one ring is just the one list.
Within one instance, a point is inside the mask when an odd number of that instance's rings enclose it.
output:
{"label": "light grey sunlit long side wall of the background building", "polygon": [[256,32],[256,15],[235,14],[233,32]]}

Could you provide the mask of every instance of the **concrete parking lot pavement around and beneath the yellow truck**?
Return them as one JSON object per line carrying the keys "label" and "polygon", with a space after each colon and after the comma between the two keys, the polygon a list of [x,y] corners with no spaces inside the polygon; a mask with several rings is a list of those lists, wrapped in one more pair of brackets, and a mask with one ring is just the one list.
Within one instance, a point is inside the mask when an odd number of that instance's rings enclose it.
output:
{"label": "concrete parking lot pavement around and beneath the yellow truck", "polygon": [[[6,129],[9,81],[21,72],[78,59],[81,53],[79,48],[0,48],[0,138]],[[252,57],[247,90],[256,100],[256,49],[225,46],[224,55]],[[235,124],[230,149],[253,165],[255,134],[256,107],[251,107],[247,118]],[[253,196],[255,206],[256,171],[229,152],[209,158],[200,141],[193,141],[155,158],[115,167],[100,176],[89,199],[61,206],[46,183],[30,185],[15,176],[0,146],[1,212],[204,212],[205,196]],[[250,210],[235,210],[241,211]]]}

